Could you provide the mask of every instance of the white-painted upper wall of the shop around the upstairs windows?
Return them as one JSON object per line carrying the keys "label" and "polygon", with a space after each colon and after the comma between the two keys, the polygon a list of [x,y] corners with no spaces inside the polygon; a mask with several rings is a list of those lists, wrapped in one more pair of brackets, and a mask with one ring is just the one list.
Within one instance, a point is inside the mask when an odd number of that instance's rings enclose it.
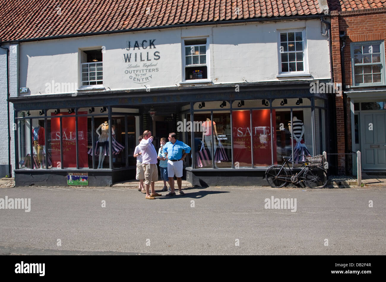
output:
{"label": "white-painted upper wall of the shop around the upstairs windows", "polygon": [[[277,78],[278,31],[305,28],[310,77]],[[184,39],[207,37],[209,40],[210,79],[214,84],[279,81],[291,79],[330,79],[330,56],[328,36],[321,34],[320,20],[259,22],[238,25],[217,25],[130,32],[114,35],[98,35],[71,39],[26,42],[20,46],[19,87],[28,87],[24,95],[75,92],[80,86],[80,62],[82,49],[97,49],[105,46],[103,54],[103,87],[108,90],[138,89],[150,87],[172,87],[182,81]],[[134,42],[155,39],[156,48],[132,50]],[[126,50],[127,41],[130,51]],[[146,45],[145,45],[146,47]],[[159,60],[154,60],[154,52]],[[139,62],[142,59],[149,62]],[[158,72],[152,72],[150,81],[135,83],[130,74],[125,74],[128,62],[124,54],[137,53],[137,64],[157,64]],[[135,62],[131,62],[135,64]],[[155,69],[156,67],[150,67]],[[54,82],[54,85],[52,84]],[[72,89],[58,87],[58,83],[71,84]],[[56,85],[55,85],[56,84]],[[49,86],[49,87],[47,87]],[[52,87],[53,86],[53,87]],[[50,89],[51,88],[51,89]]]}

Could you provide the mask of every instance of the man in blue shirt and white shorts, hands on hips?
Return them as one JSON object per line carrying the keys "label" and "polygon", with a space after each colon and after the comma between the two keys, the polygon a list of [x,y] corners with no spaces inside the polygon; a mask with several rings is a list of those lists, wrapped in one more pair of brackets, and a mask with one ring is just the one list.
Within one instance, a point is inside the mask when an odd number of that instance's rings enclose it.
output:
{"label": "man in blue shirt and white shorts, hands on hips", "polygon": [[[165,196],[175,196],[176,192],[174,192],[174,175],[177,178],[177,185],[179,195],[185,195],[182,191],[182,171],[183,171],[183,159],[190,152],[190,147],[183,143],[182,141],[178,141],[176,139],[176,133],[169,133],[169,142],[163,146],[163,152],[166,154],[168,158],[168,176],[169,176],[169,185],[171,188],[171,192],[166,194]],[[185,151],[185,152],[183,152]]]}

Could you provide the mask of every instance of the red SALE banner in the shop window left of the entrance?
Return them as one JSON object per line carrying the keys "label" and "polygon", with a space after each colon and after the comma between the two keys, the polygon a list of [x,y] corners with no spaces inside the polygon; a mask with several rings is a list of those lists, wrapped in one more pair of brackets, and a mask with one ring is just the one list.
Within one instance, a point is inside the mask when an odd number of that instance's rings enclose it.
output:
{"label": "red SALE banner in the shop window left of the entrance", "polygon": [[[87,114],[87,112],[78,112],[78,114]],[[63,143],[63,167],[76,168],[76,130],[74,113],[68,114],[61,112],[59,114],[51,113],[51,156],[52,166],[60,168],[60,138]],[[62,132],[60,132],[60,119],[62,116]],[[79,151],[79,167],[88,167],[87,154],[87,117],[78,117],[78,151]]]}

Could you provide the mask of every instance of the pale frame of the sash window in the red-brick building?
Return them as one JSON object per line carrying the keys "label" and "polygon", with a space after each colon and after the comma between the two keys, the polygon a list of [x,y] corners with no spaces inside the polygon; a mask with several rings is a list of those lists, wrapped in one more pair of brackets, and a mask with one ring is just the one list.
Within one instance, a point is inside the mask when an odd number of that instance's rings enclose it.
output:
{"label": "pale frame of the sash window in the red-brick building", "polygon": [[[371,82],[371,83],[356,83],[355,81],[355,63],[354,63],[354,47],[356,45],[367,45],[367,44],[380,44],[381,45],[381,62],[379,63],[368,63],[368,64],[357,64],[357,65],[381,65],[381,82]],[[386,64],[385,64],[385,51],[384,51],[384,40],[371,40],[371,41],[361,41],[361,42],[351,42],[350,43],[350,56],[351,56],[351,75],[352,75],[352,87],[365,87],[365,86],[377,86],[377,85],[386,85]]]}

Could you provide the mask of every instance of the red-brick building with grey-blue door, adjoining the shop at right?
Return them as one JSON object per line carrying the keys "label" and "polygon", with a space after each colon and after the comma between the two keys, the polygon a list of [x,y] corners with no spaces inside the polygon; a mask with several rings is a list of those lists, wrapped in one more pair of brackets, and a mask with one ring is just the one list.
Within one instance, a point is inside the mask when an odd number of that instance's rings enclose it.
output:
{"label": "red-brick building with grey-blue door, adjoining the shop at right", "polygon": [[[386,0],[330,0],[334,81],[337,96],[337,157],[340,174],[386,170]],[[352,157],[354,156],[354,158]]]}

